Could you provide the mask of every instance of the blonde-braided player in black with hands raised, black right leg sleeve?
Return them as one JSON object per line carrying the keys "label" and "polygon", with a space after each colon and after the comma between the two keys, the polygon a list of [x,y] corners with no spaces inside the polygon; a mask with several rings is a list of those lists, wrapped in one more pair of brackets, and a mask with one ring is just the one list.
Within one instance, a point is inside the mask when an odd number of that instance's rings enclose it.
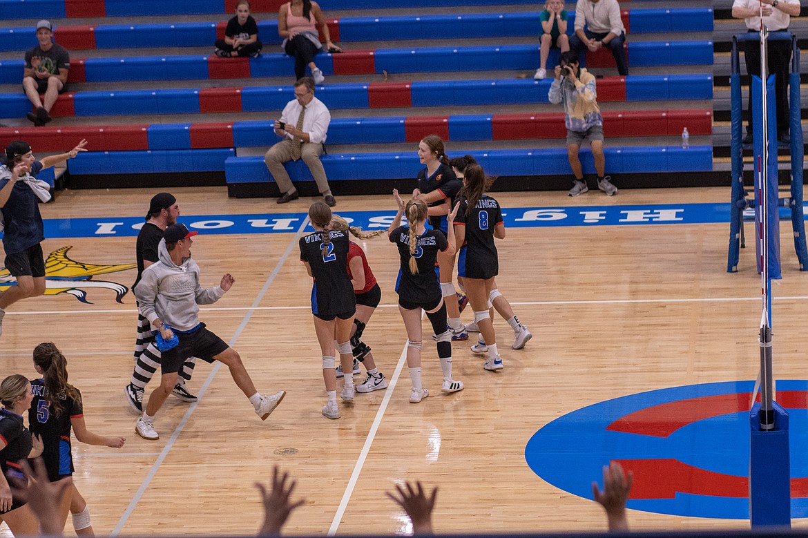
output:
{"label": "blonde-braided player in black with hands raised, black right leg sleeve", "polygon": [[[388,237],[398,246],[401,259],[396,282],[398,311],[402,314],[407,334],[406,364],[412,380],[410,403],[418,403],[429,396],[421,381],[422,310],[427,313],[432,330],[437,334],[440,369],[444,374],[441,391],[455,393],[463,390],[463,382],[452,378],[452,335],[446,326],[446,305],[435,267],[437,258],[452,257],[455,253],[452,221],[457,214],[457,205],[446,217],[447,238],[440,229],[427,228],[427,204],[423,200],[413,198],[405,207],[398,191],[393,191],[393,197],[398,204],[398,213],[390,225]],[[402,214],[405,213],[409,225],[401,226]]]}

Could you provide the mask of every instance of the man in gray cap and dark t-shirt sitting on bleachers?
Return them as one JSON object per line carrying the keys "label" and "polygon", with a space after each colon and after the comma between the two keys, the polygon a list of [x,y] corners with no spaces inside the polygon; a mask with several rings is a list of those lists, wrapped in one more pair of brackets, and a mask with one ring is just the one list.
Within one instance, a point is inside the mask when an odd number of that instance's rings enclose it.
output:
{"label": "man in gray cap and dark t-shirt sitting on bleachers", "polygon": [[[70,69],[70,55],[67,49],[53,43],[53,27],[47,20],[36,23],[36,39],[40,44],[25,53],[23,88],[28,100],[36,107],[26,117],[35,127],[47,124],[53,103],[59,94],[67,89],[67,72]],[[44,94],[44,100],[40,99]]]}

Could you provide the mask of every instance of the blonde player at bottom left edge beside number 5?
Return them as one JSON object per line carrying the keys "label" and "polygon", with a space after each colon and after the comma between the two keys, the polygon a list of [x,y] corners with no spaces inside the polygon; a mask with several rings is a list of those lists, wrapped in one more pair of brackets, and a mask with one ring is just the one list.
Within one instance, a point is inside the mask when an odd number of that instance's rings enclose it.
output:
{"label": "blonde player at bottom left edge beside number 5", "polygon": [[6,522],[14,536],[39,534],[39,522],[19,496],[11,493],[6,475],[23,478],[19,460],[42,453],[42,439],[34,437],[23,423],[23,413],[31,407],[31,383],[15,374],[0,383],[0,522]]}

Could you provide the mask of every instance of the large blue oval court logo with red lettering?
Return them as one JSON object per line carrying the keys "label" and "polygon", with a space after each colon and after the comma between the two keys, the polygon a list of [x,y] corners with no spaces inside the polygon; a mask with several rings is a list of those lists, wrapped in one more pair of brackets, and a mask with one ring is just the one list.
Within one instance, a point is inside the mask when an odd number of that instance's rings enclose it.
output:
{"label": "large blue oval court logo with red lettering", "polygon": [[[688,385],[603,401],[557,418],[528,441],[525,459],[550,484],[591,498],[601,468],[634,473],[628,507],[702,518],[749,518],[752,381]],[[808,517],[808,381],[781,380],[789,411],[791,516]]]}

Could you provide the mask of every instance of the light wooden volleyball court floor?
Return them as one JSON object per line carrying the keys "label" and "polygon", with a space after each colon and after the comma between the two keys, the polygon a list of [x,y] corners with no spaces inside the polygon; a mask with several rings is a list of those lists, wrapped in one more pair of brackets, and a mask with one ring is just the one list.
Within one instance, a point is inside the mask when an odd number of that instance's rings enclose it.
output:
{"label": "light wooden volleyball court floor", "polygon": [[[154,192],[65,191],[43,215],[142,216]],[[278,206],[228,199],[224,188],[172,192],[183,216],[305,212],[312,201]],[[612,198],[590,191],[577,199],[563,192],[494,194],[505,208],[726,202],[729,195],[727,189],[625,190]],[[343,212],[394,208],[391,198],[380,196],[338,202]],[[774,286],[775,371],[805,379],[808,275],[797,269],[788,232],[784,226],[784,278]],[[259,390],[288,391],[266,422],[226,369],[200,364],[190,384],[199,403],[170,398],[155,425],[161,438],[138,437],[137,416],[123,393],[133,368],[131,292],[121,304],[114,292],[92,288],[91,304],[61,294],[11,307],[0,337],[2,376],[35,376],[31,351],[51,340],[82,390],[90,430],[127,437],[118,451],[74,443],[75,481],[99,535],[253,534],[261,522],[254,483],[266,481],[275,464],[297,479],[297,495],[306,499],[288,521],[288,534],[406,532],[406,517],[384,492],[416,479],[440,485],[439,533],[600,531],[600,506],[532,473],[525,444],[546,423],[598,401],[755,378],[760,279],[751,249],[742,252],[739,273],[726,273],[728,236],[725,224],[509,229],[498,245],[497,280],[532,340],[520,351],[503,345],[511,331],[497,318],[506,368],[496,373],[482,369],[482,359],[469,351],[472,342],[455,343],[455,376],[465,390],[442,396],[427,336],[424,385],[434,397],[419,405],[407,401],[410,380],[402,369],[406,335],[393,307],[397,254],[386,238],[361,242],[384,294],[364,339],[390,387],[341,404],[337,421],[320,414],[325,394],[309,310],[311,281],[295,232],[202,233],[193,247],[204,284],[217,284],[225,271],[236,278],[221,301],[202,309],[201,319],[241,353]],[[46,253],[62,246],[72,246],[70,257],[83,263],[135,259],[134,237],[44,242]],[[99,279],[131,286],[134,277],[127,270]],[[470,316],[466,312],[464,320]],[[629,521],[636,529],[659,530],[748,526],[639,511],[631,511]],[[5,526],[3,533],[10,536]]]}

